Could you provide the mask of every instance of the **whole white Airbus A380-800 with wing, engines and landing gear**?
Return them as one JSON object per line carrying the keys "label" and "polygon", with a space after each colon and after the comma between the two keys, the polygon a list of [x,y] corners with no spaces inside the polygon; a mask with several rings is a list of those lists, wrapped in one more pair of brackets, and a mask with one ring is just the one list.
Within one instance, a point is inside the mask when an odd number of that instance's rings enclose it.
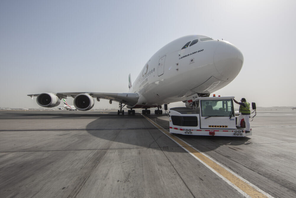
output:
{"label": "whole white Airbus A380-800 with wing, engines and landing gear", "polygon": [[119,114],[135,114],[141,108],[150,114],[149,108],[157,107],[155,114],[162,114],[163,104],[185,101],[187,96],[198,94],[208,97],[210,93],[228,85],[240,72],[244,62],[241,51],[230,42],[202,35],[178,38],[158,50],[144,65],[127,93],[62,92],[29,94],[37,96],[42,107],[56,107],[68,96],[74,98],[74,106],[81,111],[90,110],[97,101],[107,99],[119,102]]}

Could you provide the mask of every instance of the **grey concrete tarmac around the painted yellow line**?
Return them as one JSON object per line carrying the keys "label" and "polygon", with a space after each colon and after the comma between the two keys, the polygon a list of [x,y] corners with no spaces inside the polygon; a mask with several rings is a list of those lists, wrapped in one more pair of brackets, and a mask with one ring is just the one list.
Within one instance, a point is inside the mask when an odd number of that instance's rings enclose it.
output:
{"label": "grey concrete tarmac around the painted yellow line", "polygon": [[[136,110],[137,111],[137,110]],[[168,117],[148,115],[168,129]],[[296,111],[250,137],[179,138],[274,197],[296,197]],[[0,111],[0,197],[242,197],[140,113]]]}

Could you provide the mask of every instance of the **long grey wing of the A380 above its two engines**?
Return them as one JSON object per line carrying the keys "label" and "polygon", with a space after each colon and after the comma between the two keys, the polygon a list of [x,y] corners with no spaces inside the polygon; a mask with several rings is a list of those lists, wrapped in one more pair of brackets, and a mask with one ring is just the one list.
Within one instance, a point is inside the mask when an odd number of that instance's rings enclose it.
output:
{"label": "long grey wing of the A380 above its two engines", "polygon": [[[89,95],[93,98],[97,98],[98,101],[99,101],[99,99],[102,98],[102,99],[112,100],[112,101],[116,101],[116,102],[122,102],[122,103],[124,103],[128,106],[131,106],[131,107],[134,106],[135,104],[137,104],[138,99],[139,99],[139,95],[136,93],[61,92],[61,93],[29,94],[28,96],[30,96],[33,99],[33,96],[39,96],[39,95],[43,95],[43,94],[45,94],[44,100],[46,99],[46,96],[50,96],[51,98],[53,98],[52,96],[56,96],[58,99],[61,100],[63,98],[67,99],[68,96],[75,98],[75,96],[77,96],[79,94],[86,94],[86,95]],[[53,100],[53,99],[51,99],[51,100]],[[37,100],[37,102],[38,102],[38,100]],[[44,105],[41,105],[41,106],[44,106]]]}

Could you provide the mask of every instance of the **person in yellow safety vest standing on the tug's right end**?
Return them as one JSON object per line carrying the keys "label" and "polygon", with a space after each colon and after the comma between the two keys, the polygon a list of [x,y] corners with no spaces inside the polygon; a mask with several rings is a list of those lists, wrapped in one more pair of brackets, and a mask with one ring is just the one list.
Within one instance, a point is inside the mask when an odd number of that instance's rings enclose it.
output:
{"label": "person in yellow safety vest standing on the tug's right end", "polygon": [[233,99],[233,101],[240,105],[239,113],[241,114],[237,117],[237,126],[240,126],[240,122],[244,118],[244,122],[246,123],[246,133],[250,133],[250,103],[248,103],[245,98],[242,98],[241,102],[237,102],[235,99]]}

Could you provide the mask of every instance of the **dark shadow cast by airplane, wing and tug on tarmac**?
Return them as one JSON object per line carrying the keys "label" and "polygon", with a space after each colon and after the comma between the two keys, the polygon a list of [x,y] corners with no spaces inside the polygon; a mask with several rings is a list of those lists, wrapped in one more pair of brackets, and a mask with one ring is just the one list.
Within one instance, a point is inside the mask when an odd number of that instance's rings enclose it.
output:
{"label": "dark shadow cast by airplane, wing and tug on tarmac", "polygon": [[[117,115],[117,112],[26,112],[5,113],[8,119],[91,119],[96,118],[86,125],[85,130],[94,137],[102,140],[131,145],[131,148],[162,148],[170,152],[186,152],[183,149],[174,149],[178,145],[170,140],[163,132],[149,123],[140,113],[136,115]],[[40,117],[39,117],[40,116]],[[147,115],[157,124],[169,131],[169,122],[160,119],[165,115]],[[22,118],[23,117],[23,118]],[[1,117],[0,117],[1,119]],[[7,119],[7,118],[5,118]],[[141,121],[140,121],[141,120]],[[75,129],[74,129],[75,130]],[[212,151],[221,146],[233,146],[250,144],[248,137],[218,137],[218,136],[194,136],[177,135],[180,139],[194,146],[202,152]],[[120,144],[119,144],[120,145]]]}

